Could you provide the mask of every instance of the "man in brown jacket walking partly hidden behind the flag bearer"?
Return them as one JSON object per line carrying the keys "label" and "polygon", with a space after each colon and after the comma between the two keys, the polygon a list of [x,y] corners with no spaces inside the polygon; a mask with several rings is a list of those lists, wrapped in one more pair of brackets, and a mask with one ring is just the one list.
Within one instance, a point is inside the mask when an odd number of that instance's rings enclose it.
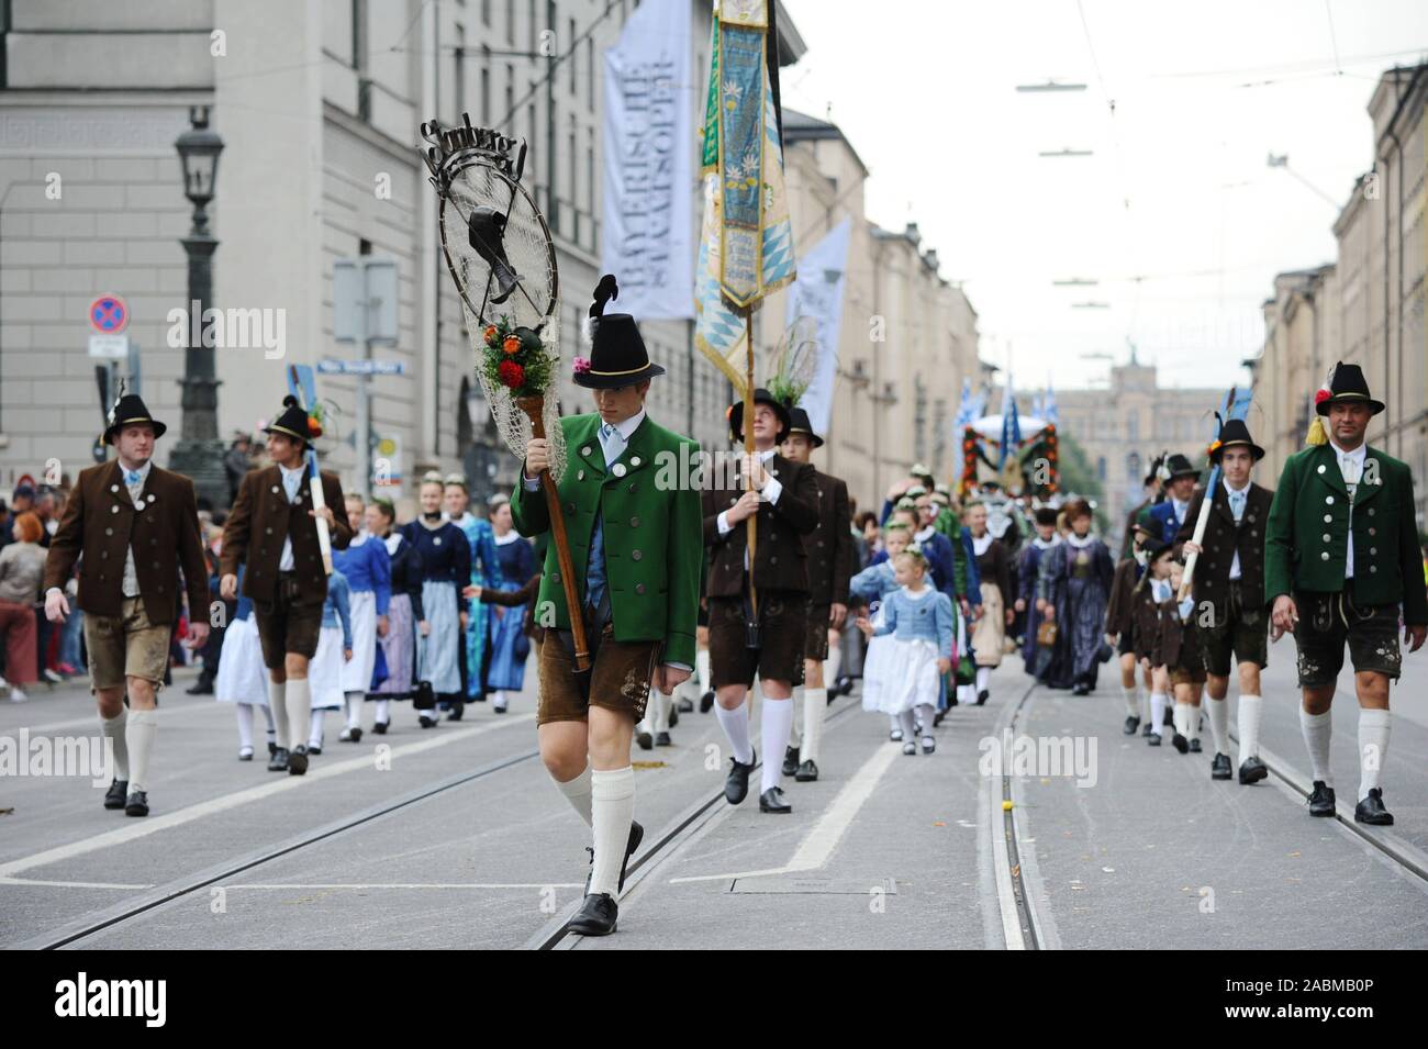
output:
{"label": "man in brown jacket walking partly hidden behind the flag bearer", "polygon": [[[830,655],[830,631],[841,631],[848,617],[848,579],[853,577],[853,514],[848,510],[848,485],[833,474],[817,470],[808,457],[823,447],[813,431],[808,412],[791,408],[793,425],[784,440],[783,454],[814,477],[818,491],[818,524],[804,535],[808,552],[808,632],[804,641],[804,684],[794,689],[793,742],[784,752],[784,775],[800,784],[818,779],[818,744],[823,718],[828,709],[823,661]],[[837,654],[837,649],[833,649]],[[837,681],[837,668],[830,672]],[[798,725],[798,698],[803,695],[803,732]],[[767,758],[767,755],[765,755]]]}

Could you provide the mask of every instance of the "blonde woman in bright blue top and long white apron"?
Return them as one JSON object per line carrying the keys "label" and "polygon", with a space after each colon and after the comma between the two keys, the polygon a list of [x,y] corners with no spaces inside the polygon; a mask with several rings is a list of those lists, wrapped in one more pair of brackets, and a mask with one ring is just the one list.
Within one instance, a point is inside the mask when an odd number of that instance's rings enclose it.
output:
{"label": "blonde woman in bright blue top and long white apron", "polygon": [[377,665],[377,638],[388,631],[387,611],[391,604],[391,558],[386,544],[367,531],[367,514],[361,495],[348,494],[347,524],[353,539],[347,549],[333,551],[333,568],[347,577],[347,601],[353,619],[353,658],[343,664],[343,704],[347,725],[338,739],[361,739],[361,705],[371,688]]}

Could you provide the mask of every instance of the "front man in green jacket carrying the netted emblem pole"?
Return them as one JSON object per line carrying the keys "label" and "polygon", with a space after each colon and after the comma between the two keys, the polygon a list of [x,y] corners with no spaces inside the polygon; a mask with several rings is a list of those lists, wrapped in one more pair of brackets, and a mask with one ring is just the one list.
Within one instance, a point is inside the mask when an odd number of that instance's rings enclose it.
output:
{"label": "front man in green jacket carrying the netted emblem pole", "polygon": [[[650,363],[633,317],[601,315],[615,294],[614,278],[603,278],[590,310],[590,360],[575,361],[575,382],[594,392],[595,411],[560,421],[567,454],[560,508],[591,655],[588,676],[575,674],[555,544],[548,544],[536,604],[536,622],[544,627],[541,759],[594,832],[590,883],[570,922],[587,936],[615,931],[615,898],[644,836],[634,822],[630,741],[650,686],[673,692],[690,676],[704,552],[700,492],[685,465],[698,462],[698,445],[645,414],[650,378],[664,368]],[[531,440],[511,498],[521,535],[550,529],[540,491],[548,465],[548,441]]]}

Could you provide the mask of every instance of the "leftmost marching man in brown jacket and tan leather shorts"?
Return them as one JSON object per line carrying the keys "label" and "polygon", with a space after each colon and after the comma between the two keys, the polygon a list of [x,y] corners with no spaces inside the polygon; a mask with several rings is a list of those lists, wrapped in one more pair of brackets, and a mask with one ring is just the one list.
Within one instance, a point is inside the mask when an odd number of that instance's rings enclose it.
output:
{"label": "leftmost marching man in brown jacket and tan leather shorts", "polygon": [[137,394],[119,398],[104,430],[104,442],[116,445],[119,458],[80,472],[44,564],[44,615],[64,622],[70,614],[64,584],[80,562],[77,604],[84,612],[90,685],[100,731],[114,748],[104,808],[131,816],[149,815],[156,696],[169,668],[181,589],[188,595],[186,644],[198,648],[208,638],[208,569],[193,481],[153,464],[154,442],[166,428]]}

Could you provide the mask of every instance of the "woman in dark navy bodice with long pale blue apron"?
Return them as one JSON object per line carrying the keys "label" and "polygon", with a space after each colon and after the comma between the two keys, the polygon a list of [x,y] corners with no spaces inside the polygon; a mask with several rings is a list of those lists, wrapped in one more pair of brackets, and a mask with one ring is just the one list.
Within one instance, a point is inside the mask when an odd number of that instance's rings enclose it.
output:
{"label": "woman in dark navy bodice with long pale blue apron", "polygon": [[[421,517],[403,525],[401,534],[421,555],[421,607],[430,632],[417,644],[417,678],[431,685],[438,702],[461,704],[461,642],[467,624],[471,547],[466,532],[441,518],[441,475],[421,480]],[[421,728],[434,728],[436,711],[420,711]]]}

